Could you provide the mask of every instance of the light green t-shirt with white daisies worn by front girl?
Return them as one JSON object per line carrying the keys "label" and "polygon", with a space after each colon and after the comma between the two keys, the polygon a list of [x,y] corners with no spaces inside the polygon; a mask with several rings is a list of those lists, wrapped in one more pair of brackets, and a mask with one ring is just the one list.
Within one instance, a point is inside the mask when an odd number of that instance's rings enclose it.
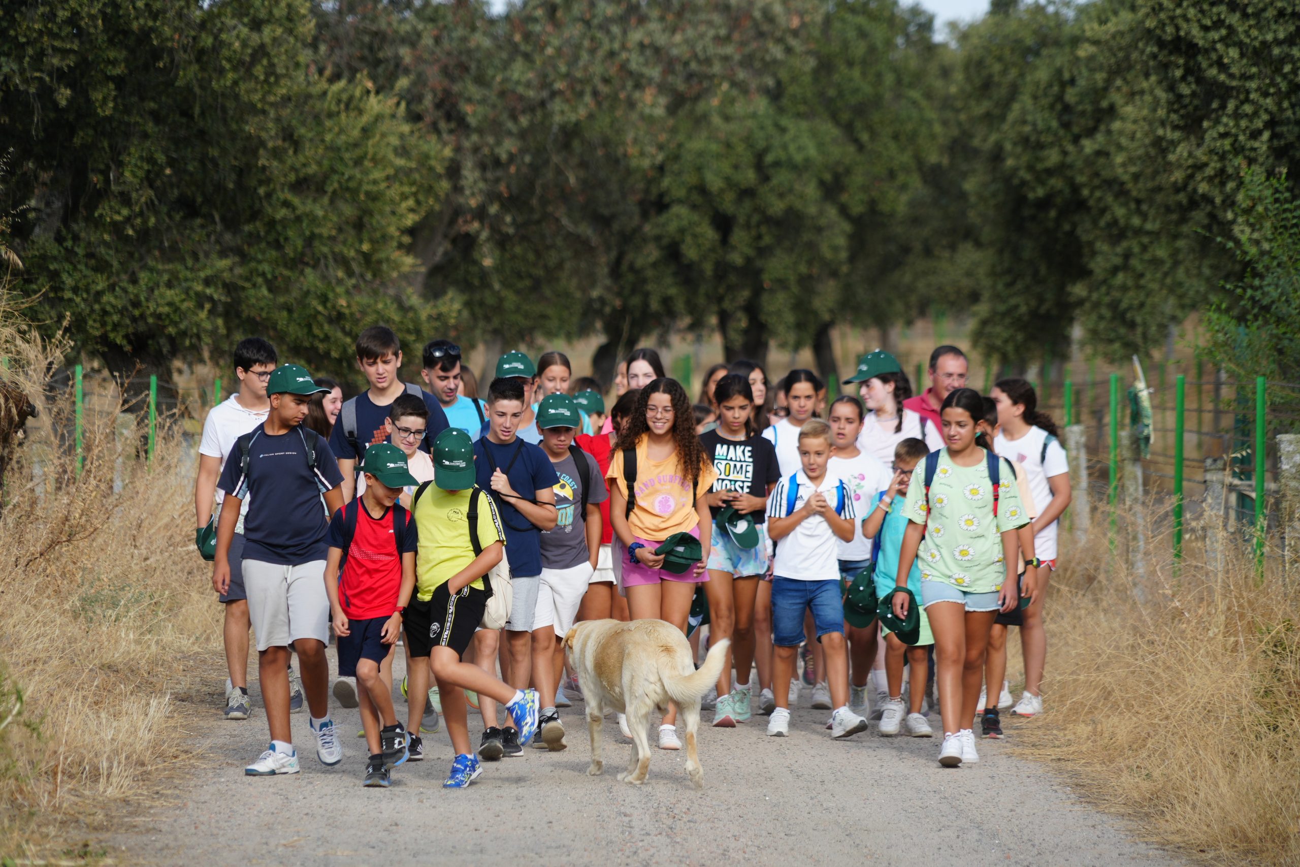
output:
{"label": "light green t-shirt with white daisies worn by front girl", "polygon": [[[944,448],[926,503],[926,465],[922,461],[907,487],[907,517],[926,524],[916,551],[922,581],[946,581],[966,593],[1002,589],[1002,533],[1030,523],[1015,487],[1015,473],[998,458],[998,506],[993,517],[993,484],[988,461],[958,467]],[[930,520],[927,523],[927,511]]]}

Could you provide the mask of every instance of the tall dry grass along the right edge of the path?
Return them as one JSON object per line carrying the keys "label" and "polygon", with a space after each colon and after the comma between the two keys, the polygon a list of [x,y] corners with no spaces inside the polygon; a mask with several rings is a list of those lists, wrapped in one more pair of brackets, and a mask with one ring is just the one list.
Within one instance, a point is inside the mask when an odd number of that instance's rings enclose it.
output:
{"label": "tall dry grass along the right edge of the path", "polygon": [[[1095,526],[1053,581],[1050,712],[1017,740],[1160,842],[1300,863],[1296,597],[1271,565],[1260,581],[1249,542],[1222,526],[1199,528],[1178,569],[1169,534],[1148,526],[1140,572],[1126,542],[1110,550],[1105,517]],[[1121,519],[1117,538],[1134,530]]]}

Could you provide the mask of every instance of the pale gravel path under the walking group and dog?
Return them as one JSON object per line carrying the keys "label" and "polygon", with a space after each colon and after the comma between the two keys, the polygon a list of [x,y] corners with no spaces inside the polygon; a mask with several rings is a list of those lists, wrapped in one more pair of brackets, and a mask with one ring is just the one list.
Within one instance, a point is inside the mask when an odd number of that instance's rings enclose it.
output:
{"label": "pale gravel path under the walking group and dog", "polygon": [[[469,789],[445,790],[445,728],[425,736],[424,762],[394,771],[393,788],[365,789],[359,714],[337,706],[347,733],[341,764],[316,759],[303,712],[292,718],[302,773],[244,777],[268,740],[256,682],[242,723],[221,719],[218,688],[212,721],[196,732],[203,759],[190,784],[104,842],[118,863],[161,864],[1178,863],[1017,758],[1015,729],[1030,720],[1008,718],[1008,741],[980,741],[978,764],[948,770],[939,738],[884,738],[872,724],[832,741],[829,714],[809,708],[811,690],[802,693],[788,738],[766,737],[758,715],[734,729],[705,728],[702,792],[682,753],[656,750],[642,786],[618,783],[632,747],[612,716],[604,775],[588,776],[580,701],[560,711],[567,750],[529,746],[485,763]],[[404,711],[399,698],[399,718]],[[471,716],[474,744],[480,731]]]}

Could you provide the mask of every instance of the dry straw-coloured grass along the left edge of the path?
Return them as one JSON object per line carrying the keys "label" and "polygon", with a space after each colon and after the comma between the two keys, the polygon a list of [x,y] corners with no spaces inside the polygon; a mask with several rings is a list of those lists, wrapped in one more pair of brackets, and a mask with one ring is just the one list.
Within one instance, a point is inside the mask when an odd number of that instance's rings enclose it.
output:
{"label": "dry straw-coloured grass along the left edge of the path", "polygon": [[13,714],[0,728],[0,858],[22,859],[185,755],[185,702],[221,671],[221,641],[181,442],[164,434],[148,463],[114,413],[94,413],[78,474],[72,395],[47,381],[62,347],[4,302],[0,376],[40,411],[0,512],[0,724]]}

